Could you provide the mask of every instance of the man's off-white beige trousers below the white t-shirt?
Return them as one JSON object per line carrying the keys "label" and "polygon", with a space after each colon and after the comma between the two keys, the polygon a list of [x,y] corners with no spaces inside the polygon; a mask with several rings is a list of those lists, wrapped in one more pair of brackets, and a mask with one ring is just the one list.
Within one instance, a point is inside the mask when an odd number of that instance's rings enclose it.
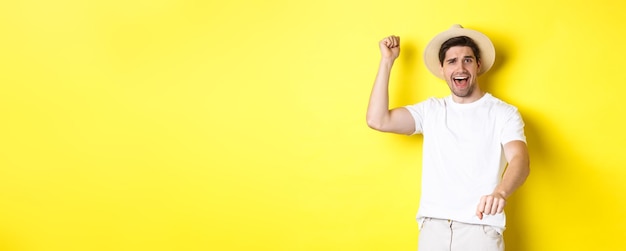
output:
{"label": "man's off-white beige trousers below the white t-shirt", "polygon": [[504,251],[504,239],[496,228],[452,220],[426,218],[418,251]]}

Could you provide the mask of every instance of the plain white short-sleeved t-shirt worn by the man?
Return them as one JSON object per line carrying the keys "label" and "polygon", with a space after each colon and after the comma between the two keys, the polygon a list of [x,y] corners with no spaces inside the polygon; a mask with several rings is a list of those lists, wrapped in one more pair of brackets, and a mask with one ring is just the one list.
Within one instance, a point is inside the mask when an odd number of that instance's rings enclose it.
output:
{"label": "plain white short-sleeved t-shirt worn by the man", "polygon": [[480,220],[476,207],[480,197],[500,183],[507,164],[503,145],[526,142],[517,108],[489,93],[469,104],[447,96],[406,108],[415,120],[415,133],[424,135],[420,226],[424,217],[430,217],[504,231],[504,213]]}

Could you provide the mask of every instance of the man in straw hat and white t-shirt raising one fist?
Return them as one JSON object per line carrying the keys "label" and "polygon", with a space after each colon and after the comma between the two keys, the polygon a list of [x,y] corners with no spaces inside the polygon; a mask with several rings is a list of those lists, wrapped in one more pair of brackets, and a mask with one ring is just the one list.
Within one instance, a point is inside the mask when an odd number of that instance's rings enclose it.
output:
{"label": "man in straw hat and white t-shirt raising one fist", "polygon": [[438,34],[426,46],[424,60],[451,94],[394,109],[389,109],[388,86],[400,38],[386,37],[379,47],[368,125],[424,136],[418,250],[504,250],[506,199],[530,169],[517,108],[478,84],[478,76],[493,65],[493,44],[460,25]]}

